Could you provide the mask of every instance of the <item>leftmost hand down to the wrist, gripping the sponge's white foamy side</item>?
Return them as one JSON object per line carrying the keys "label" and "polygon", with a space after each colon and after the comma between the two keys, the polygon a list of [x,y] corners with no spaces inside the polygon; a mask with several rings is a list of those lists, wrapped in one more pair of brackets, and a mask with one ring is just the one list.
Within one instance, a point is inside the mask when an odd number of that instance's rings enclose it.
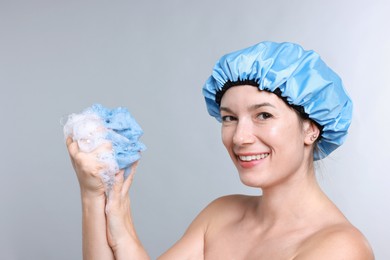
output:
{"label": "leftmost hand down to the wrist, gripping the sponge's white foamy side", "polygon": [[104,170],[104,164],[99,162],[98,155],[112,151],[110,142],[106,142],[90,153],[80,151],[76,141],[71,137],[66,139],[66,145],[73,168],[76,172],[82,196],[104,197],[104,184],[100,173]]}

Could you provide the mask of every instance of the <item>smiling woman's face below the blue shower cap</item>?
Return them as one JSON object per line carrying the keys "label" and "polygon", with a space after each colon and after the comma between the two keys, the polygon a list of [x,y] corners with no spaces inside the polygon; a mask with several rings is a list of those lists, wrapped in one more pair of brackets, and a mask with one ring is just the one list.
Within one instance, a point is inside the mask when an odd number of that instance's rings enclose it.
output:
{"label": "smiling woman's face below the blue shower cap", "polygon": [[305,123],[275,94],[232,87],[221,100],[221,117],[223,144],[244,184],[266,188],[307,170]]}

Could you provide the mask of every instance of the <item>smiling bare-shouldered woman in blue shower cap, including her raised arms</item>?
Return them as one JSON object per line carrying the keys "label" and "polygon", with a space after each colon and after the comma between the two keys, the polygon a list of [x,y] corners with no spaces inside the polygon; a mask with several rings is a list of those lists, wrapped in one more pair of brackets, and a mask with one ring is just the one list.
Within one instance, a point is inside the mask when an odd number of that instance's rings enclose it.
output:
{"label": "smiling bare-shouldered woman in blue shower cap, including her raised arms", "polygon": [[[241,181],[262,196],[213,201],[159,259],[374,259],[315,178],[314,161],[343,143],[352,111],[341,80],[315,52],[263,42],[227,54],[203,94]],[[148,259],[128,197],[136,166],[126,180],[116,175],[106,202],[95,158],[109,145],[84,154],[67,144],[82,194],[85,259]]]}

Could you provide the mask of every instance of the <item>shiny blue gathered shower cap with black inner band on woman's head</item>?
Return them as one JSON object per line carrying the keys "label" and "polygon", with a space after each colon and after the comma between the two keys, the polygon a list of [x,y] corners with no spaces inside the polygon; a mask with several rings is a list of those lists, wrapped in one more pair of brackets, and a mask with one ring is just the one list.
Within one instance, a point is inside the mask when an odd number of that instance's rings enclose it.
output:
{"label": "shiny blue gathered shower cap with black inner band on woman's head", "polygon": [[352,119],[352,101],[340,77],[314,51],[294,43],[261,42],[224,55],[203,86],[209,114],[221,121],[220,101],[232,86],[255,85],[277,94],[321,130],[320,160],[343,144]]}

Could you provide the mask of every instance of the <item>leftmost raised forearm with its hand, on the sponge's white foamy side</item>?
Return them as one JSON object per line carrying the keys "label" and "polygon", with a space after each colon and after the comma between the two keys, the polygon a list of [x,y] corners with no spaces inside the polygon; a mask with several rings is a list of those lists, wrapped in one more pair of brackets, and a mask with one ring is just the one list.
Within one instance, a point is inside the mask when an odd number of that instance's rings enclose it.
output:
{"label": "leftmost raised forearm with its hand, on the sponge's white foamy side", "polygon": [[71,138],[66,141],[73,168],[80,185],[82,202],[82,234],[84,260],[114,259],[107,241],[105,216],[106,197],[104,185],[99,177],[103,165],[96,158],[99,152],[111,150],[106,144],[91,153],[79,151],[77,142]]}

